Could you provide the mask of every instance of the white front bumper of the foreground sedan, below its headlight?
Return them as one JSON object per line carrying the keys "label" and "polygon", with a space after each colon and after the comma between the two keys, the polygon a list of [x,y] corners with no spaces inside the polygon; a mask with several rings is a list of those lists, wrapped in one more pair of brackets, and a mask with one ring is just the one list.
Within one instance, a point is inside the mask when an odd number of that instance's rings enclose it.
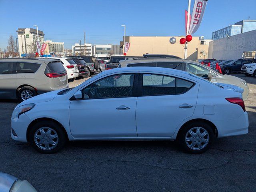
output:
{"label": "white front bumper of the foreground sedan, below its headlight", "polygon": [[32,121],[26,114],[21,114],[19,119],[13,119],[11,120],[11,127],[14,130],[14,134],[17,136],[14,136],[13,132],[11,131],[11,137],[13,140],[20,141],[20,142],[28,142],[27,140],[27,129],[29,124]]}

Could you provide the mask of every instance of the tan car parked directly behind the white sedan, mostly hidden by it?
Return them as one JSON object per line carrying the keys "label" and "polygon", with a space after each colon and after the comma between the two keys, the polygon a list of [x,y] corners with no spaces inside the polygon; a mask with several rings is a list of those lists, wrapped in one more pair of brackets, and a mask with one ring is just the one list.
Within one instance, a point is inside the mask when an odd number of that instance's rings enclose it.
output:
{"label": "tan car parked directly behind the white sedan, mostly hidden by it", "polygon": [[118,67],[134,67],[134,66],[151,66],[151,67],[164,67],[187,71],[202,78],[208,79],[213,83],[233,84],[244,89],[243,99],[247,100],[249,88],[245,80],[235,76],[220,74],[214,68],[204,66],[198,62],[186,59],[175,58],[149,58],[149,59],[134,59],[130,61],[119,61]]}

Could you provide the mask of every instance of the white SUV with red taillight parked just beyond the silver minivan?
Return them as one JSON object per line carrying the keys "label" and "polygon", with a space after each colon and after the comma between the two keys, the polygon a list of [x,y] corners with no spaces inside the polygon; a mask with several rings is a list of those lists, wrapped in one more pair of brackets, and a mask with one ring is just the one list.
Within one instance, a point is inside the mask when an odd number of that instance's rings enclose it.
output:
{"label": "white SUV with red taillight parked just beyond the silver minivan", "polygon": [[65,57],[49,57],[49,59],[60,60],[68,73],[68,81],[75,79],[79,75],[76,62],[72,58]]}

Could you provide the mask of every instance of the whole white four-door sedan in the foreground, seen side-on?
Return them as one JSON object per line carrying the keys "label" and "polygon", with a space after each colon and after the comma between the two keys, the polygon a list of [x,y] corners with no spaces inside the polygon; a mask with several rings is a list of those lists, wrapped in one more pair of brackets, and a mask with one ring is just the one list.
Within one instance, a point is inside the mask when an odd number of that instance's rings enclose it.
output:
{"label": "whole white four-door sedan in the foreground, seen side-on", "polygon": [[[41,153],[67,140],[178,140],[185,151],[202,153],[215,138],[248,133],[242,92],[180,70],[117,68],[18,104],[11,136]],[[83,121],[95,116],[106,118]]]}

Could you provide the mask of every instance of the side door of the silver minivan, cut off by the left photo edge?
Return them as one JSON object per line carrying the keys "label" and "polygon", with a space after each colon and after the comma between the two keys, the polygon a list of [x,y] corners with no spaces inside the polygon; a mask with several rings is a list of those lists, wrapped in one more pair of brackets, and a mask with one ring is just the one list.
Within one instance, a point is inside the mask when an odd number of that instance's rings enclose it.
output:
{"label": "side door of the silver minivan, cut off by the left photo edge", "polygon": [[0,98],[15,96],[16,77],[16,62],[0,62]]}

